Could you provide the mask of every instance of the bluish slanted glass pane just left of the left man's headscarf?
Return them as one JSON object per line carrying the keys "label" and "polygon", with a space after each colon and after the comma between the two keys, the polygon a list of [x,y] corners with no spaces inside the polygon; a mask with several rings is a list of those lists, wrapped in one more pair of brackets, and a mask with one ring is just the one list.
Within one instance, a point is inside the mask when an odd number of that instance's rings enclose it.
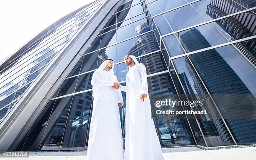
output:
{"label": "bluish slanted glass pane just left of the left man's headscarf", "polygon": [[84,55],[80,73],[95,70],[97,68],[98,56],[99,51],[90,53],[89,55]]}

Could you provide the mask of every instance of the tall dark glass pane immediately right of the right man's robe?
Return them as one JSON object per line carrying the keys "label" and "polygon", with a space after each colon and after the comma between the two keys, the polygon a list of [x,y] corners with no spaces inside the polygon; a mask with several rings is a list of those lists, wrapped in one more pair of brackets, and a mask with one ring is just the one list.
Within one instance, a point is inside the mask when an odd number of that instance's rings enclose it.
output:
{"label": "tall dark glass pane immediately right of the right man's robe", "polygon": [[[151,100],[152,116],[161,145],[192,145],[194,140],[184,115],[156,114],[156,110],[164,110],[165,106],[156,107],[156,102],[161,100],[175,100],[175,91],[172,79],[168,73],[148,77],[148,94]],[[182,111],[182,107],[173,110]]]}

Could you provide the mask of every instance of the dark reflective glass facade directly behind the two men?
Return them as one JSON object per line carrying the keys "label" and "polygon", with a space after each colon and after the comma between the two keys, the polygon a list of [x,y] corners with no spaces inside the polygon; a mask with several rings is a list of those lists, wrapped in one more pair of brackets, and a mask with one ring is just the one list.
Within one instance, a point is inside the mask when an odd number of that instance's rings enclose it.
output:
{"label": "dark reflective glass facade directly behind the two men", "polygon": [[[125,85],[127,54],[147,68],[161,146],[255,144],[255,9],[253,0],[121,2],[16,150],[86,150],[93,110],[92,74],[105,58],[111,58],[118,81]],[[19,80],[17,84],[27,86]],[[15,92],[10,96],[15,98]],[[206,110],[207,114],[155,114],[156,101],[183,98],[203,100],[203,105],[175,110]],[[5,104],[11,108],[14,102]],[[125,105],[120,118],[125,142]]]}

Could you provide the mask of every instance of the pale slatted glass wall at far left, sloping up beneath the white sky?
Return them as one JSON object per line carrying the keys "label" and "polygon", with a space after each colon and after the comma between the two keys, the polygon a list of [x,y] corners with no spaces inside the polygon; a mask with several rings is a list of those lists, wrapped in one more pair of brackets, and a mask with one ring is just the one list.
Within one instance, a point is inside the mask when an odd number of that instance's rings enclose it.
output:
{"label": "pale slatted glass wall at far left, sloping up beneath the white sky", "polygon": [[0,121],[102,2],[92,2],[52,28],[1,70]]}

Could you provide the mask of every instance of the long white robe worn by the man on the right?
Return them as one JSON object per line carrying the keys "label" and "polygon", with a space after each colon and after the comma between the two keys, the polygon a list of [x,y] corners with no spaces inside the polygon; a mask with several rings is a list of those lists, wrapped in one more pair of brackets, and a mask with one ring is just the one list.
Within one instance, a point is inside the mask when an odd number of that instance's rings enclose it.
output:
{"label": "long white robe worn by the man on the right", "polygon": [[139,63],[126,74],[125,160],[164,160],[161,145],[151,119],[149,96],[143,102],[141,94],[148,95],[146,67]]}

